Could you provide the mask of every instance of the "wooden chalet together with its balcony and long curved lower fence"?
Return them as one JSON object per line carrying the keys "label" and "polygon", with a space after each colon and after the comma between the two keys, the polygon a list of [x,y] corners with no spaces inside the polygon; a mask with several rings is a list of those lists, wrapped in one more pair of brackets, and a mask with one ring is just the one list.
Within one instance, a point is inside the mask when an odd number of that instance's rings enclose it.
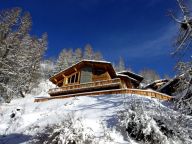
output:
{"label": "wooden chalet together with its balcony and long curved lower fence", "polygon": [[67,98],[83,95],[133,93],[168,99],[167,96],[151,91],[139,90],[143,77],[130,71],[116,73],[106,61],[82,60],[55,74],[49,79],[57,88],[48,91],[50,98]]}

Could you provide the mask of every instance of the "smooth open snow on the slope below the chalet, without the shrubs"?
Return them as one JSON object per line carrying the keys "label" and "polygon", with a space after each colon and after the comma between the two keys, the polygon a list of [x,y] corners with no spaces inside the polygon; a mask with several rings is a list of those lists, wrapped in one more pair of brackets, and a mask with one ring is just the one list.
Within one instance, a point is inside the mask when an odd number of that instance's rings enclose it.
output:
{"label": "smooth open snow on the slope below the chalet, without the shrubs", "polygon": [[[34,102],[36,96],[47,96],[47,90],[53,87],[49,82],[41,83],[39,88],[26,98],[12,100],[0,106],[0,138],[8,144],[26,142],[38,129],[48,124],[55,124],[65,119],[68,114],[81,117],[83,125],[91,128],[95,134],[102,135],[102,123],[110,128],[116,125],[116,113],[125,107],[125,103],[133,99],[142,99],[143,103],[164,107],[159,100],[136,95],[103,95],[81,96],[67,99],[55,99],[46,102]],[[37,92],[38,91],[38,92]],[[34,95],[35,94],[35,95]],[[11,118],[11,114],[15,114]],[[114,143],[126,143],[120,133],[111,130]]]}

